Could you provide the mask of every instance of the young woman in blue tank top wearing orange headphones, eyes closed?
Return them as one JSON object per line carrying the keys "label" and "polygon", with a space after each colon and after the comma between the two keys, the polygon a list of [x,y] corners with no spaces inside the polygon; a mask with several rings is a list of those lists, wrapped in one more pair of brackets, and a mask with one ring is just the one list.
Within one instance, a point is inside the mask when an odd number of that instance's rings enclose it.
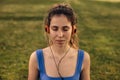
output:
{"label": "young woman in blue tank top wearing orange headphones, eyes closed", "polygon": [[45,19],[49,46],[34,51],[28,80],[90,80],[90,57],[78,48],[76,16],[66,4],[53,6]]}

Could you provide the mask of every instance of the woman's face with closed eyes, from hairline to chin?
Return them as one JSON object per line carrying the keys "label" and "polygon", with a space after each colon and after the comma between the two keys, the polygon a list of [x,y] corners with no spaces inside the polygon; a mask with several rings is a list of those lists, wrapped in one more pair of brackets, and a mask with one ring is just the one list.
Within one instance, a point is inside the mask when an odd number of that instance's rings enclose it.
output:
{"label": "woman's face with closed eyes, from hairline to chin", "polygon": [[72,25],[65,15],[55,15],[50,22],[50,39],[54,45],[66,46],[70,42]]}

